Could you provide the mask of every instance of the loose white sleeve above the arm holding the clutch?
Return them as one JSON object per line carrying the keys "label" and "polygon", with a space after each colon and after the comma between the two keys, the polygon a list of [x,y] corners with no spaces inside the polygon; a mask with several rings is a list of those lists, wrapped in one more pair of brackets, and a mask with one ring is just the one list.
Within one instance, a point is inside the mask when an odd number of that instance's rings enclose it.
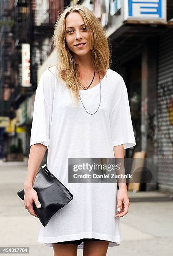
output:
{"label": "loose white sleeve above the arm holding the clutch", "polygon": [[36,143],[41,143],[49,146],[49,102],[46,100],[44,87],[48,80],[45,72],[40,77],[38,87],[35,93],[33,122],[31,127],[30,146]]}

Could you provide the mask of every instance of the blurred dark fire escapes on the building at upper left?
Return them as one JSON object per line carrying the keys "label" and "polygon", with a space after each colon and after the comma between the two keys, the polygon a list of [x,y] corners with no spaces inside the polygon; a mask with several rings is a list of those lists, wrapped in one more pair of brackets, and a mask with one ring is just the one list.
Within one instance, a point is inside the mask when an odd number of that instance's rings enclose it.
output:
{"label": "blurred dark fire escapes on the building at upper left", "polygon": [[[1,29],[0,106],[1,115],[9,115],[37,88],[37,71],[53,50],[52,36],[63,7],[70,0],[7,0],[3,19],[11,27]],[[40,5],[39,5],[40,4]],[[44,7],[44,8],[43,8]],[[22,86],[22,44],[30,45],[30,84]]]}

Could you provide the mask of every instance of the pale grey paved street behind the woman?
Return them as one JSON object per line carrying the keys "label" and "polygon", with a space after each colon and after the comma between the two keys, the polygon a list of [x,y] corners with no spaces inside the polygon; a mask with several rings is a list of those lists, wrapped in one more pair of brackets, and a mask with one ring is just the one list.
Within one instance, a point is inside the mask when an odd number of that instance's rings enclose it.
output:
{"label": "pale grey paved street behind the woman", "polygon": [[[37,242],[38,218],[25,210],[17,191],[23,187],[27,162],[4,163],[0,160],[0,247],[28,246],[31,256],[53,256],[53,248]],[[153,202],[133,202],[140,196],[153,197]],[[158,197],[158,199],[157,199]],[[108,248],[108,256],[173,255],[173,200],[160,192],[129,193],[130,208],[121,218],[121,245]],[[5,254],[2,254],[5,255]],[[83,250],[78,249],[78,256]]]}

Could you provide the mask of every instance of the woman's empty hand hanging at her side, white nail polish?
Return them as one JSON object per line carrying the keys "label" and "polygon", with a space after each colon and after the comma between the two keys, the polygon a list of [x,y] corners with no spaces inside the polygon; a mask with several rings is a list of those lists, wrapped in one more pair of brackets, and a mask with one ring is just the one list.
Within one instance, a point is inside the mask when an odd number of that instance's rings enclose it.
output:
{"label": "woman's empty hand hanging at her side, white nail polish", "polygon": [[127,214],[129,205],[130,202],[128,199],[127,188],[119,187],[117,193],[117,214],[115,215],[115,218],[123,217]]}

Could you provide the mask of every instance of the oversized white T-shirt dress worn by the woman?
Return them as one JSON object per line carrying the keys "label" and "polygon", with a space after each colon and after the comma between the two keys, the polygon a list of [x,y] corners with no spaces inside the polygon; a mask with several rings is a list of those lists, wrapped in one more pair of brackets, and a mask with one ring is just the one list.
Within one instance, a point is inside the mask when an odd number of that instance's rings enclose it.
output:
{"label": "oversized white T-shirt dress worn by the woman", "polygon": [[[50,72],[51,71],[51,72]],[[89,113],[100,103],[100,83],[81,90]],[[38,242],[53,243],[96,238],[120,245],[117,212],[117,183],[68,183],[68,158],[114,158],[113,146],[136,145],[128,93],[123,78],[108,69],[101,80],[100,108],[88,114],[81,101],[57,77],[56,66],[43,72],[35,94],[30,146],[41,143],[48,149],[48,169],[74,195],[44,227],[40,223]],[[78,246],[83,248],[83,242]]]}

